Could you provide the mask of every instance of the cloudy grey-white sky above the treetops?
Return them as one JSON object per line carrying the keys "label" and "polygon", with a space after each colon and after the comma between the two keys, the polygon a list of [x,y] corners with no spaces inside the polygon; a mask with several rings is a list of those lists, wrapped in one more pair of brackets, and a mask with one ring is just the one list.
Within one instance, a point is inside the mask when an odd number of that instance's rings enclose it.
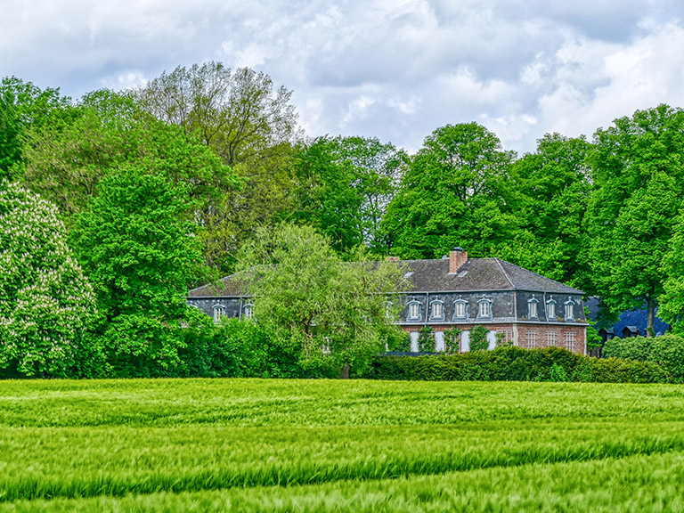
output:
{"label": "cloudy grey-white sky above the treetops", "polygon": [[74,99],[222,61],[293,91],[308,136],[419,150],[476,121],[507,150],[684,107],[680,0],[3,0],[0,77]]}

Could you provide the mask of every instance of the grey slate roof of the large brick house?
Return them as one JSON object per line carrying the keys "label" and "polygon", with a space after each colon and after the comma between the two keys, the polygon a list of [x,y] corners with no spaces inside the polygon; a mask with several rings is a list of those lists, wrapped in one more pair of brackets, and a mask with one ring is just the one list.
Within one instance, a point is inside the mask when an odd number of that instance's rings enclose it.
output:
{"label": "grey slate roof of the large brick house", "polygon": [[[531,290],[555,294],[583,294],[582,290],[550,280],[541,274],[500,258],[469,258],[458,273],[449,273],[449,260],[403,260],[411,286],[405,292],[468,292]],[[189,297],[245,296],[244,274],[226,276],[218,283],[193,289]]]}

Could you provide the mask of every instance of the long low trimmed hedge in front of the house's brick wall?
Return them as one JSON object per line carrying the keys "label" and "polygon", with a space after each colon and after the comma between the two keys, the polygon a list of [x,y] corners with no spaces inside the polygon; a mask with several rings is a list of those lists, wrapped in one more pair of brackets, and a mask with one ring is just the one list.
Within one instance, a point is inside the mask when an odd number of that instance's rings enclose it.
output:
{"label": "long low trimmed hedge in front of the house's brick wall", "polygon": [[367,379],[428,381],[585,381],[605,383],[670,383],[674,379],[655,362],[596,359],[559,347],[427,356],[378,356]]}

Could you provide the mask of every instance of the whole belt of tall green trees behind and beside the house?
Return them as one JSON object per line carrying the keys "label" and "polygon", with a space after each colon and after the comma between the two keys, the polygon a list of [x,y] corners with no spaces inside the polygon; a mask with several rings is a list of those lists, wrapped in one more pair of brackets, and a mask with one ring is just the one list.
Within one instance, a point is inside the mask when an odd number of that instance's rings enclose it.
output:
{"label": "whole belt of tall green trees behind and beside the house", "polygon": [[[455,246],[499,256],[599,297],[604,322],[647,307],[652,330],[658,308],[681,330],[679,108],[638,110],[591,138],[546,134],[522,156],[485,126],[447,125],[410,155],[372,137],[306,136],[291,95],[265,73],[220,62],[78,100],[3,78],[0,368],[178,369],[190,331],[210,330],[185,305],[187,290],[273,263],[283,233],[303,243],[293,226],[338,262],[439,258]],[[327,287],[344,274],[330,269]],[[309,335],[292,332],[293,358],[312,354]],[[378,333],[389,337],[384,325]],[[340,337],[333,354],[358,340]],[[359,354],[384,344],[364,337],[376,343]],[[363,361],[354,358],[335,365]]]}

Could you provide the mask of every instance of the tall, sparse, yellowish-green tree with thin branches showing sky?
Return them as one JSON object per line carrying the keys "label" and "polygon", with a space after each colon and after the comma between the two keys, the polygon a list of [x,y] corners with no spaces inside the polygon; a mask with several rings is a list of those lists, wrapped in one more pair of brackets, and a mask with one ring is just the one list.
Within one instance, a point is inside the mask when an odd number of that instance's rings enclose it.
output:
{"label": "tall, sparse, yellowish-green tree with thin branches showing sky", "polygon": [[292,91],[253,69],[207,62],[162,73],[135,93],[156,118],[181,126],[232,167],[245,186],[208,211],[208,261],[228,271],[256,228],[279,223],[295,207],[292,164],[300,138]]}

